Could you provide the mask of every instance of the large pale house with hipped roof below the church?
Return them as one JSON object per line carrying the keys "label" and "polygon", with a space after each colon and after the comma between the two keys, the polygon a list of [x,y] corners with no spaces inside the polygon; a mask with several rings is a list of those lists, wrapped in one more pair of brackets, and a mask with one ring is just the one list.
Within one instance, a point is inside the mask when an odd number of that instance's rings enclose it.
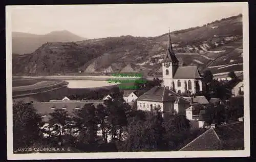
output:
{"label": "large pale house with hipped roof below the church", "polygon": [[159,108],[164,114],[173,113],[175,92],[166,87],[153,87],[137,99],[138,110],[153,111]]}

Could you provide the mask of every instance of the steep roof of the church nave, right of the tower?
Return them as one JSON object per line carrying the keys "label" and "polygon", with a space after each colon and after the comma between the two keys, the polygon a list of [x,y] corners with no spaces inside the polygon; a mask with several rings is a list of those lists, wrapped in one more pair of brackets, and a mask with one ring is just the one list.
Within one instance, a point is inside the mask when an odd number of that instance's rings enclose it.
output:
{"label": "steep roof of the church nave, right of the tower", "polygon": [[197,66],[181,66],[177,68],[177,71],[173,79],[197,79],[201,78]]}

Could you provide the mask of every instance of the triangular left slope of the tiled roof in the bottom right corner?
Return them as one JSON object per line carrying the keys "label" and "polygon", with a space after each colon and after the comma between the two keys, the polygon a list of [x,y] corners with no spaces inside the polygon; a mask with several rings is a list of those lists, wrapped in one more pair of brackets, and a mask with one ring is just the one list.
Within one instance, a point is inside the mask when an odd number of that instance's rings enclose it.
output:
{"label": "triangular left slope of the tiled roof in the bottom right corner", "polygon": [[179,151],[211,151],[219,150],[220,138],[213,128],[208,129]]}

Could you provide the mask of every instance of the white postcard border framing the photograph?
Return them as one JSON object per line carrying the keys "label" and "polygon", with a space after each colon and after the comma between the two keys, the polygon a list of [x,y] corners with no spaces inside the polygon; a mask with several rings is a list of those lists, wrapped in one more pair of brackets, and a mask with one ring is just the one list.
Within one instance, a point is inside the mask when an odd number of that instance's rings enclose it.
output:
{"label": "white postcard border framing the photograph", "polygon": [[[142,5],[142,4],[140,4]],[[143,4],[160,5],[160,4]],[[166,4],[161,4],[166,5]],[[6,6],[6,87],[7,87],[7,158],[12,159],[102,159],[102,158],[179,158],[179,157],[243,157],[250,156],[250,115],[249,115],[249,18],[248,3],[190,3],[172,4],[177,7],[184,5],[221,5],[241,6],[243,8],[243,73],[244,73],[244,150],[236,151],[170,151],[170,152],[114,152],[114,153],[36,153],[36,154],[14,154],[12,134],[12,52],[11,13],[15,8],[25,9],[35,6]],[[62,7],[63,5],[51,5],[51,7]],[[69,7],[78,5],[69,5]],[[107,5],[105,5],[107,6]],[[113,5],[110,5],[113,6]],[[118,5],[115,5],[118,6]],[[36,6],[45,7],[45,6]],[[65,6],[67,7],[67,6]]]}

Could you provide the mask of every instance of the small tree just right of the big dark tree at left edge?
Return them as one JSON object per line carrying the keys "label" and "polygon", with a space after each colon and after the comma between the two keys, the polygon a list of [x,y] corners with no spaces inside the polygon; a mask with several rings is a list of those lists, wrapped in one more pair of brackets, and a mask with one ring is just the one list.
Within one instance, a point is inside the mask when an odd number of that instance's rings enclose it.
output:
{"label": "small tree just right of the big dark tree at left edge", "polygon": [[55,109],[54,112],[50,113],[50,137],[55,137],[57,142],[62,144],[63,136],[71,130],[71,121],[67,110]]}

